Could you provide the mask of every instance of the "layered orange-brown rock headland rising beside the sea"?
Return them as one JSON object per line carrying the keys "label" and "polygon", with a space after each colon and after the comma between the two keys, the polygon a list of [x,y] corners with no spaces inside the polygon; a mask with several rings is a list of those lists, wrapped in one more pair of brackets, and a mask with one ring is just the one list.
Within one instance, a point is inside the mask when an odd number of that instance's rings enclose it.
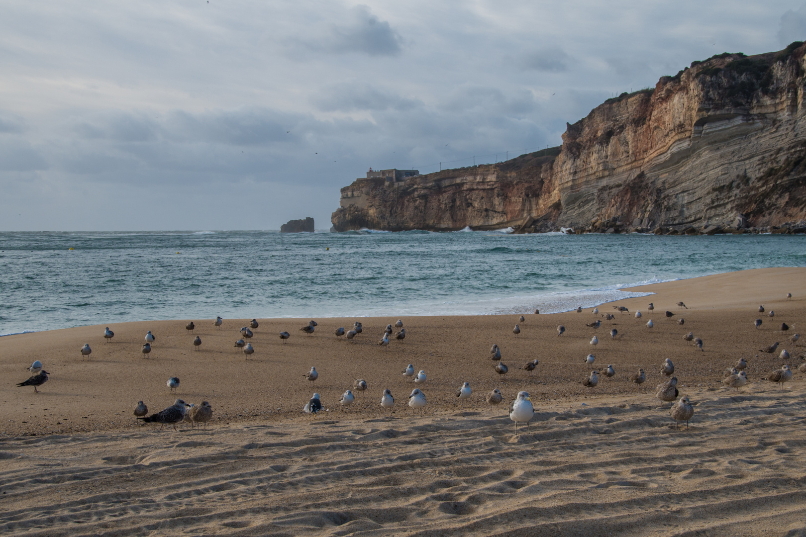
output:
{"label": "layered orange-brown rock headland rising beside the sea", "polygon": [[334,228],[803,225],[804,53],[793,43],[694,62],[654,90],[605,101],[551,150],[398,182],[356,180],[342,188]]}

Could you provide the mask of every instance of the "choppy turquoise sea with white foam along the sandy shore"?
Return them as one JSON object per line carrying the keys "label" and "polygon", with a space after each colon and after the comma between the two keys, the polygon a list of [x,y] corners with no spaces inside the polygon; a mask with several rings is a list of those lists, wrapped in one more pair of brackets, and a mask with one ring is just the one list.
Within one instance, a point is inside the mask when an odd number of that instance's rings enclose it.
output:
{"label": "choppy turquoise sea with white foam along the sandy shore", "polygon": [[617,289],[635,283],[804,265],[806,236],[782,235],[0,233],[0,334],[215,316],[559,312],[623,298]]}

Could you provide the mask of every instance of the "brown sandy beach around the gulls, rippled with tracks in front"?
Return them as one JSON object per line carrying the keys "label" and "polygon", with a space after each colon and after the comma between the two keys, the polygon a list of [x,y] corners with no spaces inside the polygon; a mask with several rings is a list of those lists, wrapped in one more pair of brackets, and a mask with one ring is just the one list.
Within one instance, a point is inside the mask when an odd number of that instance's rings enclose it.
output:
{"label": "brown sandy beach around the gulls, rippled with tracks in front", "polygon": [[[246,320],[110,324],[0,338],[0,490],[4,533],[25,535],[806,535],[800,460],[806,454],[806,383],[796,371],[779,390],[762,381],[783,363],[758,349],[780,341],[795,370],[804,361],[806,269],[762,269],[642,287],[655,295],[600,312],[404,318],[405,341],[376,342],[396,319],[364,318],[355,342],[335,328],[353,320],[260,320],[253,359],[232,345]],[[791,292],[793,299],[785,295]],[[679,309],[682,300],[690,309]],[[654,312],[646,304],[654,302]],[[775,317],[759,315],[758,304]],[[539,307],[539,304],[537,304]],[[644,314],[634,318],[635,309]],[[663,315],[675,312],[672,320]],[[679,317],[686,320],[679,326]],[[752,321],[762,318],[756,330]],[[600,317],[599,317],[600,318]],[[654,320],[654,328],[646,321]],[[793,327],[779,331],[782,322]],[[558,324],[567,332],[556,335]],[[620,337],[611,340],[609,329]],[[277,333],[288,330],[284,345]],[[147,330],[154,350],[143,359]],[[704,352],[683,341],[692,331]],[[599,345],[588,341],[593,334]],[[200,351],[193,337],[202,337]],[[804,334],[806,335],[806,334]],[[79,349],[93,353],[82,361]],[[509,374],[492,370],[501,346]],[[580,381],[613,364],[594,389]],[[695,405],[691,428],[675,428],[654,399],[664,358]],[[739,394],[723,371],[748,361]],[[534,378],[517,369],[538,358]],[[15,382],[39,359],[52,375],[34,394]],[[429,405],[413,418],[406,364],[426,370]],[[316,366],[320,376],[304,374]],[[628,382],[642,367],[647,381]],[[168,377],[181,378],[177,396]],[[349,411],[339,394],[355,378],[368,390]],[[459,407],[455,391],[470,382]],[[538,410],[515,433],[505,407],[483,395],[501,388],[508,404],[528,390]],[[396,410],[384,418],[380,394]],[[328,411],[301,414],[310,394]],[[210,401],[210,431],[135,423],[143,399],[159,411],[175,397]]]}

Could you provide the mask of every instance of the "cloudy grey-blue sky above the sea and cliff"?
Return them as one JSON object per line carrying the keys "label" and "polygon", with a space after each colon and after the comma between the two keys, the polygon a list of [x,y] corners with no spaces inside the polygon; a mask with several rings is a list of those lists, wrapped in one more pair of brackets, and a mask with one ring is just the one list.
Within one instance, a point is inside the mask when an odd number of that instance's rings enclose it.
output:
{"label": "cloudy grey-blue sky above the sea and cliff", "polygon": [[369,167],[557,146],[608,97],[794,40],[803,0],[6,0],[0,231],[329,229]]}

